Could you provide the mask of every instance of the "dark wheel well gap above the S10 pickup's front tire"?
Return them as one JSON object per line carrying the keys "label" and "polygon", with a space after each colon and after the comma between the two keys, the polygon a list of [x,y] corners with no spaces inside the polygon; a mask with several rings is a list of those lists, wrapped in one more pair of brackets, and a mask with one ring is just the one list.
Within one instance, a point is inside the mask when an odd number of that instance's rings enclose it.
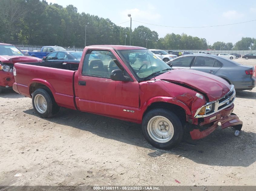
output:
{"label": "dark wheel well gap above the S10 pickup's front tire", "polygon": [[165,109],[168,109],[172,112],[174,112],[178,118],[181,120],[181,123],[184,125],[184,123],[186,122],[186,112],[185,110],[178,106],[178,105],[175,105],[175,104],[172,104],[172,103],[168,103],[168,102],[154,102],[152,103],[147,109],[146,111],[143,113],[143,116],[150,110],[152,109],[156,109],[156,108],[165,108]]}

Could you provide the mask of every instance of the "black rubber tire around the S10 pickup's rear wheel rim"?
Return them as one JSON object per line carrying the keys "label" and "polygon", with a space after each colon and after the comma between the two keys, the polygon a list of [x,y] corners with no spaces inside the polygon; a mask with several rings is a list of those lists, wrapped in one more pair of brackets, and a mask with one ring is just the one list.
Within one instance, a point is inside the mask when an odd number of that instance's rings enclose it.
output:
{"label": "black rubber tire around the S10 pickup's rear wheel rim", "polygon": [[[40,112],[37,109],[37,105],[35,105],[35,97],[37,95],[41,95],[44,97],[45,102],[47,104],[46,106],[46,110],[42,113],[42,111]],[[32,96],[32,105],[34,110],[36,111],[36,113],[43,118],[48,118],[53,116],[54,114],[58,113],[59,111],[59,106],[57,105],[57,103],[54,100],[54,97],[51,93],[49,93],[48,91],[46,91],[45,89],[39,88],[37,90],[34,91],[33,96]]]}

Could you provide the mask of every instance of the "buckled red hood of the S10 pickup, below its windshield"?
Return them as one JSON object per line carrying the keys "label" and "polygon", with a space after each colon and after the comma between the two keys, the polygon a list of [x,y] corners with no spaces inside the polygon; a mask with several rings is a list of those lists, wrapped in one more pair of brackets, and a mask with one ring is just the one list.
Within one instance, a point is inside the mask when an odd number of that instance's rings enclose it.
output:
{"label": "buckled red hood of the S10 pickup, below its windshield", "polygon": [[174,82],[175,84],[185,84],[186,86],[206,94],[209,101],[223,97],[231,89],[231,86],[224,79],[206,72],[191,69],[173,69],[156,76],[155,79]]}

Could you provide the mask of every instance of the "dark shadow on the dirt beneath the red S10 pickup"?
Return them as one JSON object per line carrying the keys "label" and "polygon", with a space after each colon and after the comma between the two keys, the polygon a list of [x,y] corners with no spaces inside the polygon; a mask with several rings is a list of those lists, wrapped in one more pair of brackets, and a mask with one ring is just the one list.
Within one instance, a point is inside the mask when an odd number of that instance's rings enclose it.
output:
{"label": "dark shadow on the dirt beneath the red S10 pickup", "polygon": [[[33,109],[25,110],[24,113],[37,116]],[[89,131],[104,138],[149,148],[152,152],[148,155],[153,158],[165,153],[184,154],[184,157],[198,164],[213,166],[247,167],[255,162],[256,139],[254,132],[241,131],[240,135],[236,137],[234,136],[235,130],[232,128],[217,129],[206,138],[192,140],[189,135],[190,130],[187,130],[180,145],[171,150],[160,150],[148,144],[142,135],[139,124],[66,108],[61,108],[54,118],[47,120]]]}

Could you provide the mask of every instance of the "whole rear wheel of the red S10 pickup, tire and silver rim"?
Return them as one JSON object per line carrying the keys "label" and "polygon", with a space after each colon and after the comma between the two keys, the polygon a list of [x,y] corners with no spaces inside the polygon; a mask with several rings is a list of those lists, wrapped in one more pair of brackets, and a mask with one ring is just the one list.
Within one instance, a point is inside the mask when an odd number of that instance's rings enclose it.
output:
{"label": "whole rear wheel of the red S10 pickup, tire and silver rim", "polygon": [[51,117],[59,111],[59,106],[51,93],[41,88],[34,91],[32,105],[36,113],[43,118]]}

